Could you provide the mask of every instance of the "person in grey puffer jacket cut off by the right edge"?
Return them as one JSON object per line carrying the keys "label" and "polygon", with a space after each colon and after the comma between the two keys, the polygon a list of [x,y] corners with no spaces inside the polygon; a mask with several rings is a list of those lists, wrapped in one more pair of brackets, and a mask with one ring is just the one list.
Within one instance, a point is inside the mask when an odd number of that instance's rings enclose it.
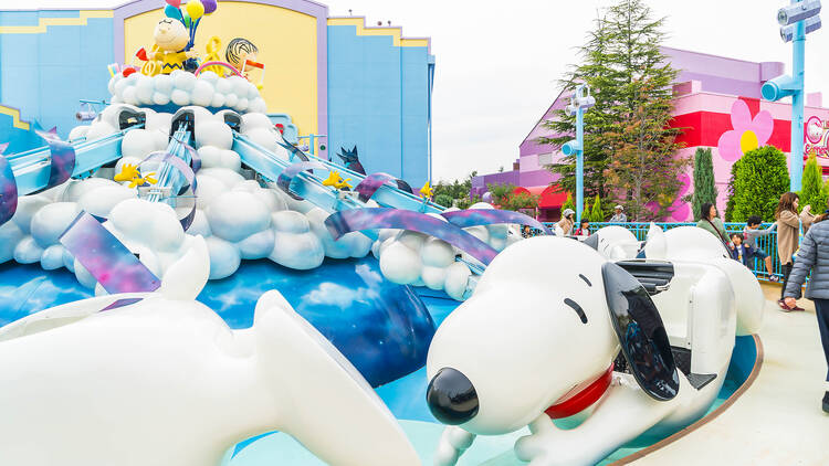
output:
{"label": "person in grey puffer jacket cut off by the right edge", "polygon": [[829,413],[829,222],[825,222],[827,218],[829,210],[818,215],[814,226],[806,232],[783,296],[785,306],[794,310],[806,276],[811,272],[809,284],[806,286],[806,298],[815,303],[818,318],[820,342],[828,368],[822,407]]}

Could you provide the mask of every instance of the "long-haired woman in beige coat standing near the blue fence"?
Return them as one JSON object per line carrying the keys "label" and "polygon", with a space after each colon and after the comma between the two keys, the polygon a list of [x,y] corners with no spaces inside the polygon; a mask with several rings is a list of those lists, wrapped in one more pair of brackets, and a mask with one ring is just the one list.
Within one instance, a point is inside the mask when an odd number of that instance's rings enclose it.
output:
{"label": "long-haired woman in beige coat standing near the blue fence", "polygon": [[784,293],[786,292],[786,285],[794,266],[794,254],[797,251],[798,241],[800,239],[800,227],[807,231],[814,215],[809,213],[811,210],[810,205],[806,205],[800,215],[797,214],[799,208],[800,198],[794,192],[786,192],[780,197],[780,201],[777,203],[777,212],[775,212],[775,219],[777,219],[777,256],[780,260],[783,266],[783,288],[780,289],[780,299],[777,305],[784,311],[788,313],[791,310],[804,310],[801,307],[788,307],[784,300]]}

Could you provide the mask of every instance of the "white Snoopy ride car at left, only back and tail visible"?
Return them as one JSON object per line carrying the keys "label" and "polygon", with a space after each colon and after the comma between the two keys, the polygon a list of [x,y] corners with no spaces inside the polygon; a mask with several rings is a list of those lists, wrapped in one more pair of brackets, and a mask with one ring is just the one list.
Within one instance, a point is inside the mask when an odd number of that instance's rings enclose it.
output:
{"label": "white Snoopy ride car at left, only back and tail visible", "polygon": [[420,464],[368,383],[277,292],[243,330],[196,301],[210,265],[193,243],[157,293],[0,328],[0,464],[218,466],[271,431],[330,465]]}

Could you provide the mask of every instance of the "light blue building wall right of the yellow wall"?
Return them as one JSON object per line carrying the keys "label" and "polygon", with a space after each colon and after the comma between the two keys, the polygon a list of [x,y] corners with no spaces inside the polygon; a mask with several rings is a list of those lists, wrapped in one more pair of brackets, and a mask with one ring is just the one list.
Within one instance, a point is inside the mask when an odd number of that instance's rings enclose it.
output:
{"label": "light blue building wall right of the yellow wall", "polygon": [[366,171],[419,188],[430,178],[430,55],[391,35],[328,25],[328,153],[355,145]]}

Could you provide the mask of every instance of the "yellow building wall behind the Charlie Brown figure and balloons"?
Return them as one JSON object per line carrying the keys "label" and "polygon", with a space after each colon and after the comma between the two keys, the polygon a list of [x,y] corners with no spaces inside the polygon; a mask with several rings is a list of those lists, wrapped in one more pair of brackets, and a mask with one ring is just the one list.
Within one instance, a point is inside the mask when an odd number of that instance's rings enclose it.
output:
{"label": "yellow building wall behind the Charlie Brown figure and balloons", "polygon": [[[159,2],[160,3],[160,2]],[[182,2],[183,4],[183,2]],[[164,11],[147,11],[124,21],[124,56],[130,63],[140,47],[153,46],[153,30],[165,18]],[[196,50],[206,56],[208,40],[218,35],[224,46],[233,38],[244,38],[259,49],[258,61],[265,64],[262,97],[271,113],[291,115],[300,134],[317,128],[317,30],[314,17],[261,3],[219,2],[219,9],[203,17],[196,32]],[[251,80],[258,82],[258,71]]]}

